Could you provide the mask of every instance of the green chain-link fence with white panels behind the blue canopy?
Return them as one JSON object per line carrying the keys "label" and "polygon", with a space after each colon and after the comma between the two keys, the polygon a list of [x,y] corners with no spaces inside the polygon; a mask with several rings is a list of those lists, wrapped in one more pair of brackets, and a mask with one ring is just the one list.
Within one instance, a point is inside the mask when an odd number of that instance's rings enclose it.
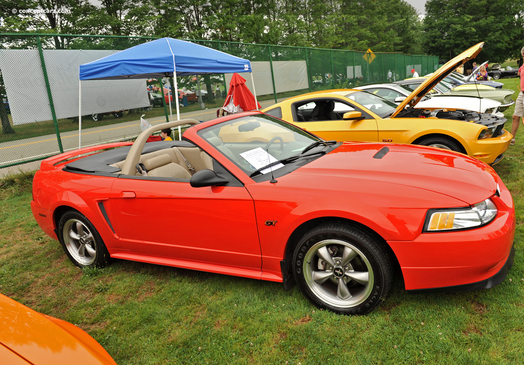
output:
{"label": "green chain-link fence with white panels behind the blue canopy", "polygon": [[[0,34],[0,168],[78,148],[79,65],[152,39]],[[263,107],[277,98],[403,80],[411,69],[425,75],[438,67],[438,58],[432,56],[193,42],[250,60]],[[168,113],[176,114],[173,98],[185,116],[211,119],[224,103],[229,77],[182,76],[177,78],[179,92],[173,95],[173,80],[167,78],[84,81],[82,146],[135,138],[141,115],[160,123]]]}

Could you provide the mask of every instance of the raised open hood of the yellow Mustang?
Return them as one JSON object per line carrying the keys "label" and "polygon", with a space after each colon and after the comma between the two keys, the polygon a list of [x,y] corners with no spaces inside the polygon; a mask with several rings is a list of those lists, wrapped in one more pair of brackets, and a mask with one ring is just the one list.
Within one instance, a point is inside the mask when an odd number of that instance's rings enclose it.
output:
{"label": "raised open hood of the yellow Mustang", "polygon": [[450,61],[447,61],[440,69],[433,72],[429,78],[417,87],[395,110],[395,113],[391,115],[391,118],[396,117],[408,104],[415,106],[424,97],[425,94],[429,93],[433,87],[441,82],[447,75],[449,75],[457,67],[463,65],[468,60],[475,58],[477,54],[482,50],[484,42],[478,43],[477,45],[465,50],[459,56],[454,57]]}

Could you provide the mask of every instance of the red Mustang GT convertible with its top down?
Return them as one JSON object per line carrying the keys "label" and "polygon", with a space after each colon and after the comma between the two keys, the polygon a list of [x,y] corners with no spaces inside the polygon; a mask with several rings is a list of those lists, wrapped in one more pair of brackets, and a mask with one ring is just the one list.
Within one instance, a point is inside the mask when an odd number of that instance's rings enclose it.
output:
{"label": "red Mustang GT convertible with its top down", "polygon": [[[184,124],[182,141],[146,143]],[[410,291],[477,290],[514,257],[514,203],[483,162],[325,141],[259,112],[48,158],[32,193],[38,224],[79,267],[118,258],[297,282],[344,314],[372,311],[395,267]]]}

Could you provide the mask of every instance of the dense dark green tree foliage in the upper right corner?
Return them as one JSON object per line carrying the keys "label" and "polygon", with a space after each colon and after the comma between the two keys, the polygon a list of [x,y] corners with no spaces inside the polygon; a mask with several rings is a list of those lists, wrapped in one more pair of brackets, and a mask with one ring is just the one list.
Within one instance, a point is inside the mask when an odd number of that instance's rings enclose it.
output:
{"label": "dense dark green tree foliage in the upper right corner", "polygon": [[429,0],[423,21],[424,50],[447,60],[485,42],[479,57],[504,62],[522,47],[522,7],[514,0]]}

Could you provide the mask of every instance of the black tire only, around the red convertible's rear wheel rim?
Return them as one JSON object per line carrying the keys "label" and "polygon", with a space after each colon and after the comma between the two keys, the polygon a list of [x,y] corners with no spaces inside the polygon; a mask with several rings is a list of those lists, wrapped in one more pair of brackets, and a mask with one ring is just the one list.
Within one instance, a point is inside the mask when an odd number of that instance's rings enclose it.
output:
{"label": "black tire only, around the red convertible's rear wheel rim", "polygon": [[[70,219],[78,219],[82,224],[84,224],[88,229],[90,230],[91,234],[94,238],[95,243],[95,250],[96,250],[96,257],[93,263],[89,265],[84,265],[77,260],[75,260],[72,256],[67,247],[65,246],[65,239],[63,237],[63,228],[66,222]],[[91,223],[91,221],[86,218],[82,213],[79,213],[77,211],[69,211],[67,213],[64,213],[58,222],[58,238],[60,241],[60,244],[62,245],[62,248],[65,252],[65,255],[71,260],[71,262],[78,266],[79,268],[103,268],[107,265],[107,263],[110,261],[109,252],[107,251],[107,248],[105,247],[104,241],[102,240],[102,237],[100,236],[99,232],[96,230],[94,225]]]}

